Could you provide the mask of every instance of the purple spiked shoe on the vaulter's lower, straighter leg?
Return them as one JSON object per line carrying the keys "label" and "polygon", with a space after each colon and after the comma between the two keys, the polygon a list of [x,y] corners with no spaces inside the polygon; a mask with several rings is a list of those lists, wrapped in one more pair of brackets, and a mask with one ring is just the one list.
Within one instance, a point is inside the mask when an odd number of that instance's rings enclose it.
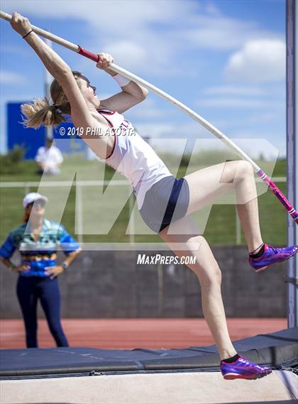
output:
{"label": "purple spiked shoe on the vaulter's lower, straighter leg", "polygon": [[254,380],[267,376],[272,372],[267,366],[252,364],[244,356],[239,356],[240,358],[231,364],[221,361],[221,374],[226,380],[233,380],[235,378]]}

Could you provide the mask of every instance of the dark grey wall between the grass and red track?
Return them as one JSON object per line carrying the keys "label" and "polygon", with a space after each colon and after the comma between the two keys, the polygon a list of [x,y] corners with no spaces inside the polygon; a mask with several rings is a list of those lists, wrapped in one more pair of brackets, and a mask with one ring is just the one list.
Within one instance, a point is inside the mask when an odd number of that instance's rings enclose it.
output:
{"label": "dark grey wall between the grass and red track", "polygon": [[[285,263],[256,274],[248,266],[245,247],[216,246],[212,250],[223,274],[227,317],[286,317]],[[59,278],[62,317],[203,317],[199,281],[189,268],[138,265],[138,253],[172,256],[171,251],[81,253]],[[18,256],[13,261],[17,260]],[[0,266],[1,317],[21,318],[18,275]]]}

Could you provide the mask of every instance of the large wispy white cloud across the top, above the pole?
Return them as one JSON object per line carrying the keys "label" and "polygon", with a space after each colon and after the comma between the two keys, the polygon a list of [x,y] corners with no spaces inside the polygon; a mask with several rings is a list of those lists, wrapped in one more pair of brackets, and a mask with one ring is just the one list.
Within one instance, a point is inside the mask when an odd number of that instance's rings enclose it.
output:
{"label": "large wispy white cloud across the top, above the pole", "polygon": [[84,47],[90,45],[92,50],[100,43],[106,51],[113,50],[117,64],[124,60],[127,67],[158,75],[189,69],[185,58],[177,63],[177,55],[189,49],[230,50],[248,40],[277,38],[257,23],[223,16],[204,1],[85,0],[74,6],[72,0],[51,0],[45,6],[45,1],[2,0],[1,4],[6,12],[24,13],[35,25],[38,17],[85,21],[90,42]]}

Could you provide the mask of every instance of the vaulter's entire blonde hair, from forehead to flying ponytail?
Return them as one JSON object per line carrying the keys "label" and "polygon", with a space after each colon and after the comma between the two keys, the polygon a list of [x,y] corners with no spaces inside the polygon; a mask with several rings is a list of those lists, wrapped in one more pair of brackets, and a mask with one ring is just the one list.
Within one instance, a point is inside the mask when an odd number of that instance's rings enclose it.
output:
{"label": "vaulter's entire blonde hair, from forehead to flying ponytail", "polygon": [[[75,77],[78,87],[79,78],[82,77],[81,72],[76,70],[72,71]],[[65,122],[65,116],[63,114],[70,115],[70,102],[68,101],[62,85],[56,79],[53,80],[50,86],[50,95],[54,104],[50,104],[49,99],[34,99],[33,103],[21,105],[21,111],[23,114],[23,125],[26,128],[38,129],[40,126],[57,126],[62,122]]]}

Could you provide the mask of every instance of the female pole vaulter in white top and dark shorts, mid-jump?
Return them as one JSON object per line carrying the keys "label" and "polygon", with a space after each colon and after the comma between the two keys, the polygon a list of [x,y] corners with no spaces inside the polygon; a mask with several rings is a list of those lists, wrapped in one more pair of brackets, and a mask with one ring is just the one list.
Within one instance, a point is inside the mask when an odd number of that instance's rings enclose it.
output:
{"label": "female pole vaulter in white top and dark shorts, mid-jump", "polygon": [[[22,106],[27,126],[58,125],[71,115],[83,140],[96,155],[115,170],[126,175],[136,193],[140,215],[145,223],[160,235],[177,256],[196,256],[188,267],[194,271],[202,289],[204,317],[221,358],[221,373],[226,379],[256,379],[267,376],[271,369],[253,364],[238,355],[228,334],[221,297],[221,271],[213,253],[199,229],[189,217],[219,195],[235,190],[238,215],[248,244],[249,263],[255,272],[264,271],[274,263],[294,256],[298,246],[277,249],[263,243],[258,217],[258,199],[253,168],[238,160],[221,163],[176,179],[153,149],[138,133],[126,136],[133,129],[121,115],[147,96],[144,87],[109,70],[111,55],[99,54],[97,67],[105,70],[121,86],[122,91],[99,100],[82,73],[70,67],[33,32],[31,23],[19,13],[13,13],[11,26],[16,30],[45,65],[55,80],[51,85],[53,104],[37,99]],[[88,132],[110,133],[110,136],[88,136]],[[115,131],[121,131],[116,136]],[[168,234],[168,229],[171,229]],[[183,246],[181,250],[175,245]],[[198,249],[199,246],[199,249]]]}

